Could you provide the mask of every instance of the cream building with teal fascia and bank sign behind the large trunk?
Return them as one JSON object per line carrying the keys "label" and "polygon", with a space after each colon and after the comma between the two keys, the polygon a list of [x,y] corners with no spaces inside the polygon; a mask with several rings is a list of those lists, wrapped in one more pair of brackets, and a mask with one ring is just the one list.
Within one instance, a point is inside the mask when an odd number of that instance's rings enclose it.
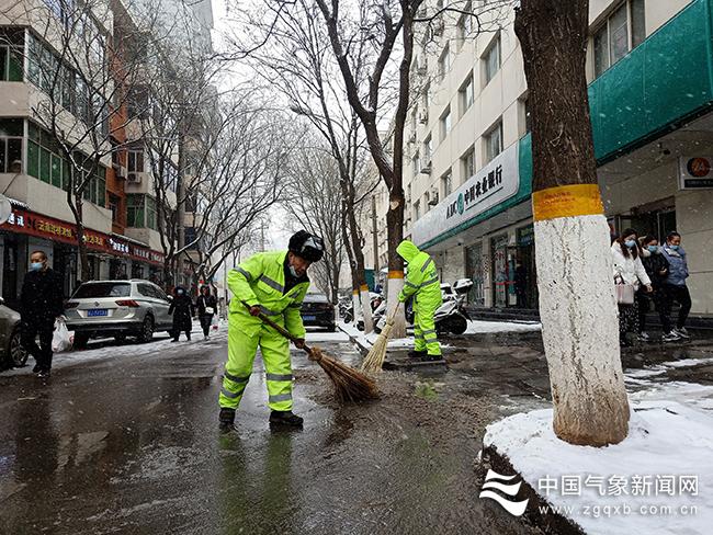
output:
{"label": "cream building with teal fascia and bank sign behind the large trunk", "polygon": [[[488,11],[480,31],[462,16],[419,36],[405,234],[442,280],[474,280],[472,304],[535,308],[528,87],[513,20],[510,9]],[[713,312],[713,1],[591,0],[589,20],[589,102],[612,231],[681,232],[693,312]]]}

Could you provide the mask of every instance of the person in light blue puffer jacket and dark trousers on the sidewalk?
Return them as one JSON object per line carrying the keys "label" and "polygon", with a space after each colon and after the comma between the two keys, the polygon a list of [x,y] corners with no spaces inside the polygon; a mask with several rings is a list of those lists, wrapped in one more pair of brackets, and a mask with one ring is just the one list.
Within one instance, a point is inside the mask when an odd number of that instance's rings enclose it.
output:
{"label": "person in light blue puffer jacket and dark trousers on the sidewalk", "polygon": [[[666,244],[661,249],[661,254],[668,261],[668,276],[663,284],[663,305],[661,323],[664,325],[664,341],[676,341],[679,339],[691,338],[686,330],[686,320],[691,311],[691,294],[686,285],[688,278],[688,262],[686,251],[681,247],[681,235],[677,231],[669,232],[666,237]],[[674,303],[678,303],[678,321],[676,328],[671,322],[671,308]]]}

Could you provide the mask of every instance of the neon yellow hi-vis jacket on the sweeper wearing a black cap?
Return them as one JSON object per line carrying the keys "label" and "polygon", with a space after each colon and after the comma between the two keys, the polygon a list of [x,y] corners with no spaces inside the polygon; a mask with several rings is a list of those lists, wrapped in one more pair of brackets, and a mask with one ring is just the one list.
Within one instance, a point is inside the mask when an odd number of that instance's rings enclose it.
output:
{"label": "neon yellow hi-vis jacket on the sweeper wearing a black cap", "polygon": [[230,301],[230,317],[237,316],[240,327],[249,335],[260,331],[262,321],[250,316],[242,301],[259,306],[265,316],[285,327],[294,337],[305,338],[299,309],[309,289],[309,281],[301,282],[283,294],[286,255],[287,251],[259,252],[228,273],[228,287],[235,296]]}

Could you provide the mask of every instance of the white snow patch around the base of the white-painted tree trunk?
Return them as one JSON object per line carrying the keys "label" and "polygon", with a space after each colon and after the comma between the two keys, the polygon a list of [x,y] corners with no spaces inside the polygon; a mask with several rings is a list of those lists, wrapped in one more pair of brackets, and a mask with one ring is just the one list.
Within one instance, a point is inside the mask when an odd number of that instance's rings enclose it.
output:
{"label": "white snow patch around the base of the white-painted tree trunk", "polygon": [[489,425],[484,445],[507,455],[555,511],[588,534],[711,533],[713,414],[702,409],[713,408],[713,388],[669,383],[630,401],[629,436],[620,444],[563,442],[546,409]]}

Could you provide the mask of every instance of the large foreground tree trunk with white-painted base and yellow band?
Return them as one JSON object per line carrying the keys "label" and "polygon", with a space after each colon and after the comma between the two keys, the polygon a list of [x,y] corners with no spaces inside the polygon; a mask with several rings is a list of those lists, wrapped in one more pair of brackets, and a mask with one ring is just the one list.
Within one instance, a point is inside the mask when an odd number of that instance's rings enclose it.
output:
{"label": "large foreground tree trunk with white-painted base and yellow band", "polygon": [[532,113],[533,212],[540,316],[554,431],[573,444],[626,437],[609,227],[597,184],[585,78],[588,0],[522,0]]}

